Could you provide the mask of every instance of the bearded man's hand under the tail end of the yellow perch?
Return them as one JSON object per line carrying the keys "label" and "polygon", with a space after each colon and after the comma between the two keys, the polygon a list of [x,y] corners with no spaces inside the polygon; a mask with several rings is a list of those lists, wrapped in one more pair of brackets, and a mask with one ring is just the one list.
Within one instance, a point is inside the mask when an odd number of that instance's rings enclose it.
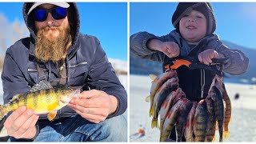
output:
{"label": "bearded man's hand under the tail end of the yellow perch", "polygon": [[36,134],[35,124],[38,122],[39,115],[34,114],[31,109],[26,109],[26,106],[20,106],[14,110],[8,118],[4,126],[7,134],[14,138],[34,138]]}

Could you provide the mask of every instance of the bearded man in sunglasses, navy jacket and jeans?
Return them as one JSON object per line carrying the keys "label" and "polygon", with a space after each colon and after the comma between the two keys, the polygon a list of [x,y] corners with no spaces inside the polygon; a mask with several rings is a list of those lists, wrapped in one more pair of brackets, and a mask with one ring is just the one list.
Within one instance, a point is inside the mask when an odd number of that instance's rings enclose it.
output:
{"label": "bearded man in sunglasses, navy jacket and jeans", "polygon": [[58,110],[52,122],[19,106],[4,123],[9,141],[125,142],[126,90],[98,39],[79,33],[76,3],[25,2],[23,17],[30,38],[22,38],[6,51],[4,102],[42,81],[82,92]]}

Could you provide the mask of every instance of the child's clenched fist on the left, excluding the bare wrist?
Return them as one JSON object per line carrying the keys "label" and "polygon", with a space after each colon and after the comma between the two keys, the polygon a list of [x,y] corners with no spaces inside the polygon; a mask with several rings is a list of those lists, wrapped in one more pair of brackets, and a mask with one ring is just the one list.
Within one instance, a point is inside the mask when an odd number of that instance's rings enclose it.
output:
{"label": "child's clenched fist on the left, excluding the bare wrist", "polygon": [[166,54],[169,58],[174,58],[179,55],[179,47],[175,42],[162,42],[160,51]]}

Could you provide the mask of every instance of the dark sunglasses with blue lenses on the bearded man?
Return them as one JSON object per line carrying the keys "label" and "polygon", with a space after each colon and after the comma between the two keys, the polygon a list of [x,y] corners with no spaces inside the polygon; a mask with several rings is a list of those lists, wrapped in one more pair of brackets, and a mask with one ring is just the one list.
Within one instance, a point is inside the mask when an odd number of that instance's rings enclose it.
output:
{"label": "dark sunglasses with blue lenses on the bearded man", "polygon": [[44,22],[47,19],[48,13],[50,13],[54,19],[59,20],[66,17],[66,8],[55,7],[52,9],[34,10],[34,20],[37,22]]}

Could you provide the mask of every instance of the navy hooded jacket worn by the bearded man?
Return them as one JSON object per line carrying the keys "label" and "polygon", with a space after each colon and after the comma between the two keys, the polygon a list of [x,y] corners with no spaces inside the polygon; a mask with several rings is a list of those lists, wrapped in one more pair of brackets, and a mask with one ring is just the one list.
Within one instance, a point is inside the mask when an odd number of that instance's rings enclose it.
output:
{"label": "navy hooded jacket worn by the bearded man", "polygon": [[[26,26],[30,30],[30,38],[19,40],[6,51],[2,71],[5,103],[10,102],[15,94],[27,93],[31,86],[39,82],[37,62],[34,58],[34,42],[36,39],[34,21],[27,15],[30,6],[31,3],[28,2],[23,5],[23,17]],[[69,10],[72,18],[74,18],[74,26],[70,26],[74,31],[74,39],[66,55],[66,85],[68,87],[87,85],[93,89],[114,95],[118,99],[118,109],[108,118],[118,116],[124,113],[127,107],[126,90],[114,73],[114,69],[108,61],[106,53],[102,50],[98,38],[79,33],[80,19],[76,3],[70,2]],[[49,82],[60,79],[58,66],[53,62],[45,63],[42,68]],[[69,117],[74,114],[76,114],[74,110],[66,106],[58,110],[55,119]],[[40,118],[46,118],[46,116]]]}

